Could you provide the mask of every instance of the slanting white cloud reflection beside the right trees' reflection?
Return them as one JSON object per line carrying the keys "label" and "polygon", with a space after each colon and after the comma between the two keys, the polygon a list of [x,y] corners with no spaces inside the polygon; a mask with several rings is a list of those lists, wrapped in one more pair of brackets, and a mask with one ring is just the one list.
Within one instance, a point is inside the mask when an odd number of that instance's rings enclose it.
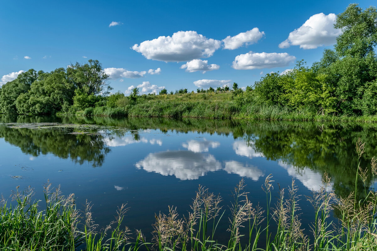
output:
{"label": "slanting white cloud reflection beside the right trees' reflection", "polygon": [[[301,181],[301,183],[310,190],[318,191],[322,186],[322,175],[314,172],[309,167],[296,168],[292,164],[285,163],[281,160],[277,163],[279,166],[287,170],[288,174],[293,178]],[[326,188],[327,191],[333,189],[333,183]]]}

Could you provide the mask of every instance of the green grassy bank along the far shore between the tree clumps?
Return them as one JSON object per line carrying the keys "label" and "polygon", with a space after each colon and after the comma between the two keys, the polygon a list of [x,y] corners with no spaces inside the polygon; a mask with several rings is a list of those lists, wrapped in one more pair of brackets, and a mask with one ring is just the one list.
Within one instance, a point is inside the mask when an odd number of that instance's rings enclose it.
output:
{"label": "green grassy bank along the far shore between the tree clumps", "polygon": [[318,114],[311,107],[300,110],[289,106],[245,102],[230,92],[144,95],[133,102],[121,97],[115,107],[107,105],[77,111],[81,116],[109,117],[192,117],[207,119],[256,119],[315,122],[377,122],[377,116]]}

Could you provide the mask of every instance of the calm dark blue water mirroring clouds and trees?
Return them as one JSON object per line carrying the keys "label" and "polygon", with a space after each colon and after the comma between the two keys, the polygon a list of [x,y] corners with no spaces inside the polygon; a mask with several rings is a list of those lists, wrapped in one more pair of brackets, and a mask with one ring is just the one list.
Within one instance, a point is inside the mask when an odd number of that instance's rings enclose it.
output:
{"label": "calm dark blue water mirroring clouds and trees", "polygon": [[[366,141],[367,166],[377,156],[374,125],[0,115],[0,193],[31,185],[43,198],[49,179],[64,194],[75,193],[79,206],[92,201],[101,227],[127,202],[127,226],[147,234],[154,214],[166,213],[168,205],[186,213],[199,184],[220,193],[227,211],[225,202],[241,178],[251,201],[264,206],[261,186],[270,173],[273,196],[277,183],[288,187],[292,179],[301,195],[310,195],[325,171],[336,194],[348,195],[355,187],[359,137]],[[313,210],[303,196],[300,206],[307,228]],[[228,234],[227,217],[222,222],[220,239]]]}

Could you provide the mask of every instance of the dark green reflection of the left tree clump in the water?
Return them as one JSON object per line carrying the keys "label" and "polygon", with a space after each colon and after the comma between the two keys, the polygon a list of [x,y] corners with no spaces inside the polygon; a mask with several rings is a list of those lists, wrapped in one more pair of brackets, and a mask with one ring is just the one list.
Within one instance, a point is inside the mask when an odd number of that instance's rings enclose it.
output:
{"label": "dark green reflection of the left tree clump in the water", "polygon": [[92,163],[101,166],[110,149],[102,135],[67,134],[56,129],[8,128],[0,126],[0,137],[12,145],[20,147],[26,154],[54,154],[60,158],[70,158],[75,163]]}

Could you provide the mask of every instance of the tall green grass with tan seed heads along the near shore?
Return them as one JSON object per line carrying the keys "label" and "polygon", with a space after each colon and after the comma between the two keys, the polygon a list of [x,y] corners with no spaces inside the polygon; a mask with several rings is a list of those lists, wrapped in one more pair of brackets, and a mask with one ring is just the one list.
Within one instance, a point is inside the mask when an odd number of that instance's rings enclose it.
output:
{"label": "tall green grass with tan seed heads along the near shore", "polygon": [[[74,196],[64,197],[59,189],[50,192],[46,184],[45,207],[41,202],[31,202],[32,190],[13,193],[16,205],[7,206],[5,199],[0,207],[1,250],[212,250],[212,251],[283,251],[283,250],[377,250],[377,192],[366,184],[367,176],[377,175],[377,160],[372,158],[371,170],[360,166],[364,144],[357,142],[358,166],[356,182],[364,183],[365,199],[356,201],[352,192],[346,198],[337,197],[331,190],[331,180],[325,173],[322,187],[306,199],[313,205],[314,214],[310,234],[304,233],[300,219],[297,186],[279,187],[279,198],[272,205],[274,189],[271,175],[262,187],[265,202],[253,205],[244,181],[233,191],[229,209],[221,206],[220,195],[199,186],[190,211],[180,217],[175,207],[169,213],[156,214],[153,239],[147,242],[143,233],[132,234],[123,227],[126,205],[116,211],[115,221],[97,232],[91,217],[91,205],[86,203],[83,212],[76,209]],[[357,187],[356,187],[357,189]],[[357,190],[355,191],[356,194]],[[44,203],[43,203],[44,204]],[[260,204],[265,204],[264,210]],[[334,210],[339,211],[339,221],[330,220]],[[79,228],[79,220],[82,227]],[[228,222],[228,238],[216,240],[219,224]],[[82,229],[82,230],[81,230]],[[133,236],[132,236],[133,235]]]}

